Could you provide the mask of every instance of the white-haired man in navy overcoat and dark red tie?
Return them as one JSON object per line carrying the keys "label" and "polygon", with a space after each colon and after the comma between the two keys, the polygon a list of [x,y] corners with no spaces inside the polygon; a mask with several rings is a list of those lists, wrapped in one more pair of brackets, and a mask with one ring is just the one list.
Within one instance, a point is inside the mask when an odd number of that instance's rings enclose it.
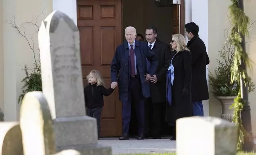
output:
{"label": "white-haired man in navy overcoat and dark red tie", "polygon": [[[119,88],[119,100],[122,101],[122,129],[120,140],[129,140],[128,131],[131,117],[131,102],[136,102],[138,119],[138,140],[144,139],[144,99],[150,96],[149,80],[158,65],[157,57],[144,42],[138,42],[136,29],[125,29],[126,42],[116,48],[111,63],[111,87]],[[151,62],[147,70],[147,60]]]}

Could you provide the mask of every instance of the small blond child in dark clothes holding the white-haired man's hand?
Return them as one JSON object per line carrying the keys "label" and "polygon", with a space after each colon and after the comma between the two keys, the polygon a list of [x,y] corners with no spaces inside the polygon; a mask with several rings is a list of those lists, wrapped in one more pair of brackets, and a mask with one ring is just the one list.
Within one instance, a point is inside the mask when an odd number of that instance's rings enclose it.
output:
{"label": "small blond child in dark clothes holding the white-haired man's hand", "polygon": [[101,129],[101,111],[104,106],[103,95],[109,96],[114,89],[106,89],[103,85],[101,74],[97,70],[92,70],[87,76],[88,85],[84,88],[85,107],[88,116],[97,119],[98,140]]}

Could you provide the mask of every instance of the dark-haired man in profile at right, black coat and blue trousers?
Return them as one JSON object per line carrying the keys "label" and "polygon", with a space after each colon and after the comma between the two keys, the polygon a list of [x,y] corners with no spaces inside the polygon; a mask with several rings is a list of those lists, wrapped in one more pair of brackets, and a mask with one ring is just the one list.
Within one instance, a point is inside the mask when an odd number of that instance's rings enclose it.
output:
{"label": "dark-haired man in profile at right, black coat and blue trousers", "polygon": [[206,45],[199,38],[199,27],[196,23],[191,22],[185,25],[186,36],[189,40],[187,43],[192,55],[192,100],[193,115],[204,116],[202,101],[209,99],[208,85],[206,80],[206,65],[209,64],[209,57],[206,52]]}

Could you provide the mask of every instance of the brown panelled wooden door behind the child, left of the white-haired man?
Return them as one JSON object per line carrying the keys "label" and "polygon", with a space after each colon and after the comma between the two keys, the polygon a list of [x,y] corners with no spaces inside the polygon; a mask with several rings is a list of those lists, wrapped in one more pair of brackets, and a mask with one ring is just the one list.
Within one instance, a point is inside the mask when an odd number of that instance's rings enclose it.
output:
{"label": "brown panelled wooden door behind the child, left of the white-haired man", "polygon": [[[122,40],[121,0],[77,0],[78,28],[80,30],[81,66],[83,83],[93,69],[99,70],[105,87],[111,85],[110,66],[118,45]],[[103,137],[122,134],[122,105],[118,100],[118,88],[112,95],[104,96],[101,114]]]}

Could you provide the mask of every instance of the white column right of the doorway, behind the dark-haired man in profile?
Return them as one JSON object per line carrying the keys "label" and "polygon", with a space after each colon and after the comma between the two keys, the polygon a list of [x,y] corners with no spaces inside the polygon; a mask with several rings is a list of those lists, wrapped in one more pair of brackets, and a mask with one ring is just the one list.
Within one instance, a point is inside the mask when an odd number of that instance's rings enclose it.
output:
{"label": "white column right of the doorway, behind the dark-haired man in profile", "polygon": [[[186,23],[191,21],[199,26],[199,36],[206,45],[208,53],[208,0],[186,0]],[[210,62],[211,63],[211,62]],[[206,66],[206,78],[208,81],[208,65]],[[209,100],[203,101],[204,115],[209,116]]]}

